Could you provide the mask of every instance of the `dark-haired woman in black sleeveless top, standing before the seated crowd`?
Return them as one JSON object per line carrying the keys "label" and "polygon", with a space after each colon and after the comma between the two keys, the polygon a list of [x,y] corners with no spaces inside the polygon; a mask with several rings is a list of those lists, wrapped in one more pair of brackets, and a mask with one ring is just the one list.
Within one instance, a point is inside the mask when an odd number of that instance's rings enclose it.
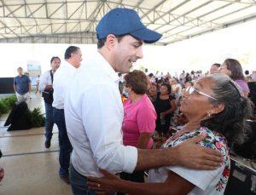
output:
{"label": "dark-haired woman in black sleeveless top, standing before the seated crowd", "polygon": [[160,93],[154,100],[154,109],[157,113],[155,130],[160,135],[166,135],[170,127],[172,113],[177,109],[175,98],[171,95],[171,92],[171,85],[163,83],[160,87]]}

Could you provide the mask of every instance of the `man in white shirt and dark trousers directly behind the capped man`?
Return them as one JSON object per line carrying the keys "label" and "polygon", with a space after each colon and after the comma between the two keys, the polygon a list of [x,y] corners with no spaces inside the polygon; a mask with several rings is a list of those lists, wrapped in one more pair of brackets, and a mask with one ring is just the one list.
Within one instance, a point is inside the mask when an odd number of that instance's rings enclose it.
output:
{"label": "man in white shirt and dark trousers directly behind the capped man", "polygon": [[80,66],[81,60],[81,50],[75,46],[68,47],[65,52],[65,61],[62,63],[58,71],[55,72],[53,82],[53,119],[59,129],[59,175],[61,179],[67,183],[69,183],[68,168],[70,163],[70,153],[72,152],[72,146],[67,137],[67,129],[64,117],[64,100],[67,92],[67,86],[72,81],[75,72]]}

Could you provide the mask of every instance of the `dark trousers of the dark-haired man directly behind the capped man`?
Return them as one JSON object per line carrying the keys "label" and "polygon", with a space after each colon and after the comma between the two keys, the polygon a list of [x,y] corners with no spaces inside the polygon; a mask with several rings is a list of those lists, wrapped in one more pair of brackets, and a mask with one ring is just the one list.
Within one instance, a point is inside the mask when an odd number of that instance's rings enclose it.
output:
{"label": "dark trousers of the dark-haired man directly behind the capped man", "polygon": [[71,143],[67,136],[67,129],[65,123],[65,116],[63,109],[54,108],[53,111],[54,122],[57,124],[59,129],[59,146],[60,146],[60,176],[68,175],[69,163],[70,163],[70,154],[73,150]]}

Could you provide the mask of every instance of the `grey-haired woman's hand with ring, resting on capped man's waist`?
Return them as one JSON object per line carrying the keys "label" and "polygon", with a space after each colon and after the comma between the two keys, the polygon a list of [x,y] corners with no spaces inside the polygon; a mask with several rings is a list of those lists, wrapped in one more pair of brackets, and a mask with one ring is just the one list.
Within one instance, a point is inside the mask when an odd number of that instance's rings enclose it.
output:
{"label": "grey-haired woman's hand with ring, resting on capped man's waist", "polygon": [[90,190],[96,191],[96,194],[108,194],[118,192],[117,188],[122,182],[119,177],[109,173],[107,170],[100,169],[103,177],[88,177],[88,186]]}

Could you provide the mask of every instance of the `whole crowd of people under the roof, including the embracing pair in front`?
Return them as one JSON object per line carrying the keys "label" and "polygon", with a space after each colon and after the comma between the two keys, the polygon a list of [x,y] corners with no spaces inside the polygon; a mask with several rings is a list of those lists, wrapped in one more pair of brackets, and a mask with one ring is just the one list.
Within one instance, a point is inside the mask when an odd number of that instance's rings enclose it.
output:
{"label": "whole crowd of people under the roof, including the embracing pair in front", "polygon": [[[83,66],[82,51],[70,46],[65,61],[52,57],[38,79],[44,146],[50,147],[56,123],[61,179],[74,194],[224,194],[230,146],[244,140],[253,116],[247,81],[255,72],[247,79],[234,59],[213,64],[205,75],[130,72],[143,58],[143,43],[161,37],[131,9],[111,10],[96,32],[98,51]],[[19,83],[30,81],[18,72],[20,100],[31,87],[21,90]]]}

